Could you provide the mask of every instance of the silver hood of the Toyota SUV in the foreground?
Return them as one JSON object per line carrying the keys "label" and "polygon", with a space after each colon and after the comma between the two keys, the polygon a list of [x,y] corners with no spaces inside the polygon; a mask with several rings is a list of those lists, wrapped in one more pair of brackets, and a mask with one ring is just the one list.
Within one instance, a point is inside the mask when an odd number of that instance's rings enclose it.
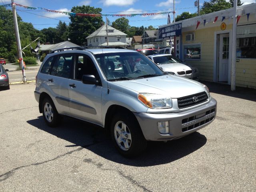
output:
{"label": "silver hood of the Toyota SUV in the foreground", "polygon": [[138,93],[167,94],[171,98],[180,98],[205,91],[201,83],[174,75],[112,81],[111,83],[126,87]]}

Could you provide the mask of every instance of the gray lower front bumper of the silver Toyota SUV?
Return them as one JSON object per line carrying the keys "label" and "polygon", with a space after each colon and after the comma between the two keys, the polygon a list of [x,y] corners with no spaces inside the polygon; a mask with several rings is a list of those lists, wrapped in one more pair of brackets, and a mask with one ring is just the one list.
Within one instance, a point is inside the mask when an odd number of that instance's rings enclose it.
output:
{"label": "gray lower front bumper of the silver Toyota SUV", "polygon": [[[150,114],[135,113],[146,140],[173,140],[195,132],[210,124],[216,116],[217,101],[211,101],[203,106],[179,113]],[[158,122],[169,122],[169,133],[158,132]]]}

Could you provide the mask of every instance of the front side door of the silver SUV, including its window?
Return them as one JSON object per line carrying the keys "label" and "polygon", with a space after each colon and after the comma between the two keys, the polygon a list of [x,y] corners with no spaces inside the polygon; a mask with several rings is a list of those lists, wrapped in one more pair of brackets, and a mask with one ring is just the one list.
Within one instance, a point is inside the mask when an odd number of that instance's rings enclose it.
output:
{"label": "front side door of the silver SUV, including its window", "polygon": [[83,75],[94,75],[100,81],[91,58],[86,54],[76,54],[74,74],[68,86],[70,112],[76,118],[102,125],[102,86],[83,84]]}

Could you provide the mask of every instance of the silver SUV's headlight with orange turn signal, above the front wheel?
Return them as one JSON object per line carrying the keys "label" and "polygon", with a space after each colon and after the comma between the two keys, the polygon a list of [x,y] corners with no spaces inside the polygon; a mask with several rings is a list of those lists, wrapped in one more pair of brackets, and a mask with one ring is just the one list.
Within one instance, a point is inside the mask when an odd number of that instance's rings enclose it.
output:
{"label": "silver SUV's headlight with orange turn signal, above the front wheel", "polygon": [[172,108],[172,98],[164,95],[140,93],[138,100],[151,109]]}

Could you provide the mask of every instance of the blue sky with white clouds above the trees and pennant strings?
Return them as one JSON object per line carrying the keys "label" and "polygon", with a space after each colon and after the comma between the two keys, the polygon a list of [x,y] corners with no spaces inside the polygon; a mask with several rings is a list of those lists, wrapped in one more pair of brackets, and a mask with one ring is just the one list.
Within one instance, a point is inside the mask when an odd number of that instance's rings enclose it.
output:
{"label": "blue sky with white clouds above the trees and pennant strings", "polygon": [[[176,15],[181,14],[184,11],[190,13],[197,12],[197,8],[194,7],[194,1],[195,0],[176,0]],[[1,4],[8,4],[10,2],[11,0],[0,0]],[[102,8],[102,14],[154,13],[173,10],[173,0],[14,0],[14,2],[32,7],[42,7],[59,11],[70,11],[73,6],[90,5],[96,8]],[[244,4],[249,4],[255,2],[255,0],[242,0],[242,2],[244,2]],[[202,3],[203,1],[200,1],[200,4]],[[68,16],[62,14],[38,10],[32,11],[19,6],[17,6],[17,9],[17,13],[21,16],[23,21],[31,22],[34,27],[39,30],[50,26],[56,27],[58,20],[64,20],[66,23],[70,21]],[[108,17],[110,22],[115,21],[117,18],[120,17]],[[167,15],[147,17],[135,16],[132,18],[128,17],[128,19],[130,26],[143,25],[147,27],[152,25],[158,27],[167,24]],[[171,15],[171,20],[173,20],[173,15]]]}

